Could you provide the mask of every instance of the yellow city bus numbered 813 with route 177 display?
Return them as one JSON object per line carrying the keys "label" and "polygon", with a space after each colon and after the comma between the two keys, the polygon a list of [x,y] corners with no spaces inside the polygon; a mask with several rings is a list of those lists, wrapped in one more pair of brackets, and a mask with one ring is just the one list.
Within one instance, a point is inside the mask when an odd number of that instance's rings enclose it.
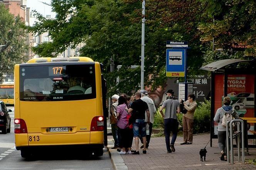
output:
{"label": "yellow city bus numbered 813 with route 177 display", "polygon": [[22,157],[50,147],[103,155],[101,66],[88,57],[33,58],[15,65],[15,147]]}

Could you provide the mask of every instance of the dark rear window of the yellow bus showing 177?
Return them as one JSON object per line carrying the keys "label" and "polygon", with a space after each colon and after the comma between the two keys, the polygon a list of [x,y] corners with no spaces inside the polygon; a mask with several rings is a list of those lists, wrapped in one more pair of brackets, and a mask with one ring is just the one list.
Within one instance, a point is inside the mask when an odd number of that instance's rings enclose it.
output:
{"label": "dark rear window of the yellow bus showing 177", "polygon": [[22,101],[66,101],[95,97],[93,64],[20,67]]}

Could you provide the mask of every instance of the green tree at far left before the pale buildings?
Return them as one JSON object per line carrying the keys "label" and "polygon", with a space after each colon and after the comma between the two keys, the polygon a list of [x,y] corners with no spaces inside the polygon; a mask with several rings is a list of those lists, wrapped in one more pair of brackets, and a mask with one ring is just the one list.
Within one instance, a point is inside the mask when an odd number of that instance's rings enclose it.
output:
{"label": "green tree at far left before the pale buildings", "polygon": [[28,57],[25,44],[25,26],[19,17],[14,17],[0,3],[0,80],[3,73],[13,73],[16,63],[25,62]]}

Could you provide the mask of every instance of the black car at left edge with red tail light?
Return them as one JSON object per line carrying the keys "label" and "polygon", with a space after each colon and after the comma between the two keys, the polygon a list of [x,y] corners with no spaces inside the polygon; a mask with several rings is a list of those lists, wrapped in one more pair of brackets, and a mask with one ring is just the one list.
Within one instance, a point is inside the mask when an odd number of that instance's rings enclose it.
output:
{"label": "black car at left edge with red tail light", "polygon": [[3,134],[11,132],[11,118],[8,112],[12,110],[7,110],[5,103],[0,101],[0,130]]}

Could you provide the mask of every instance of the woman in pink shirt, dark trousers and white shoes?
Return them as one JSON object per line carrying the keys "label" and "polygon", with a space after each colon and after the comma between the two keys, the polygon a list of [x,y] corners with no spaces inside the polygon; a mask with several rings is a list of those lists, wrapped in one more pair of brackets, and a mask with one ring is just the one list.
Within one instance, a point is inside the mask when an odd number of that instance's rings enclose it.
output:
{"label": "woman in pink shirt, dark trousers and white shoes", "polygon": [[128,127],[128,119],[127,119],[127,112],[128,104],[126,102],[125,97],[120,96],[118,98],[118,106],[116,108],[116,116],[117,116],[117,127],[118,127],[118,133],[120,133],[120,148],[122,149],[119,154],[131,154],[131,148],[130,148],[130,140],[129,140],[129,127]]}

